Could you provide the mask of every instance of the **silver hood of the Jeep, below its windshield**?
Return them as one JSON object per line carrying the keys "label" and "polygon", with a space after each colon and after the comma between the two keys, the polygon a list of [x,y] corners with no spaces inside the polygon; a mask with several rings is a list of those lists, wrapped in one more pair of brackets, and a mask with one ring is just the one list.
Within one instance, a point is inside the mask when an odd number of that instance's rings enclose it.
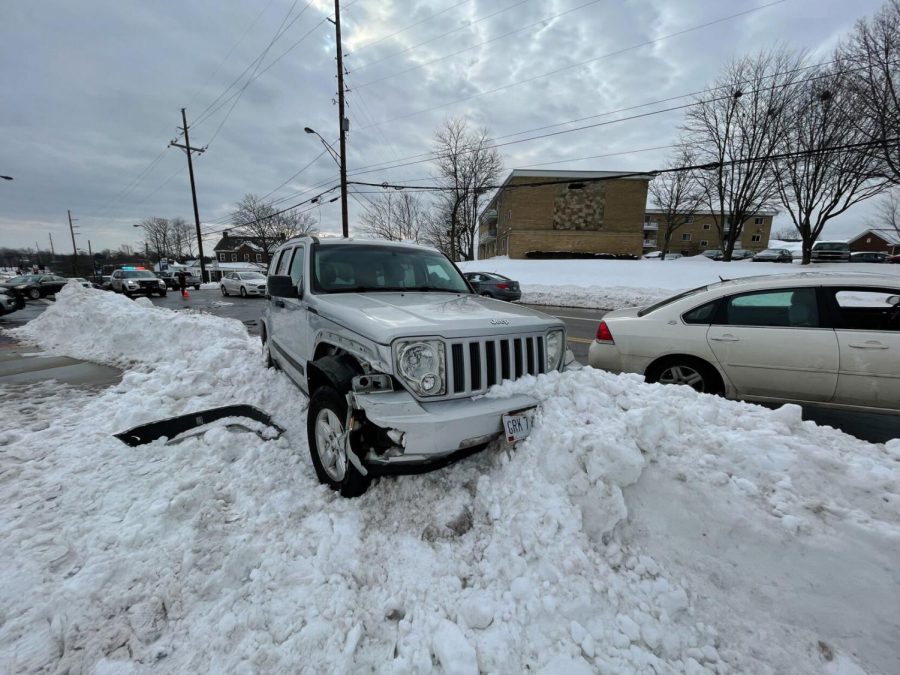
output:
{"label": "silver hood of the Jeep, below its windshield", "polygon": [[482,337],[563,326],[537,310],[457,293],[332,293],[316,298],[319,314],[376,342],[437,335]]}

